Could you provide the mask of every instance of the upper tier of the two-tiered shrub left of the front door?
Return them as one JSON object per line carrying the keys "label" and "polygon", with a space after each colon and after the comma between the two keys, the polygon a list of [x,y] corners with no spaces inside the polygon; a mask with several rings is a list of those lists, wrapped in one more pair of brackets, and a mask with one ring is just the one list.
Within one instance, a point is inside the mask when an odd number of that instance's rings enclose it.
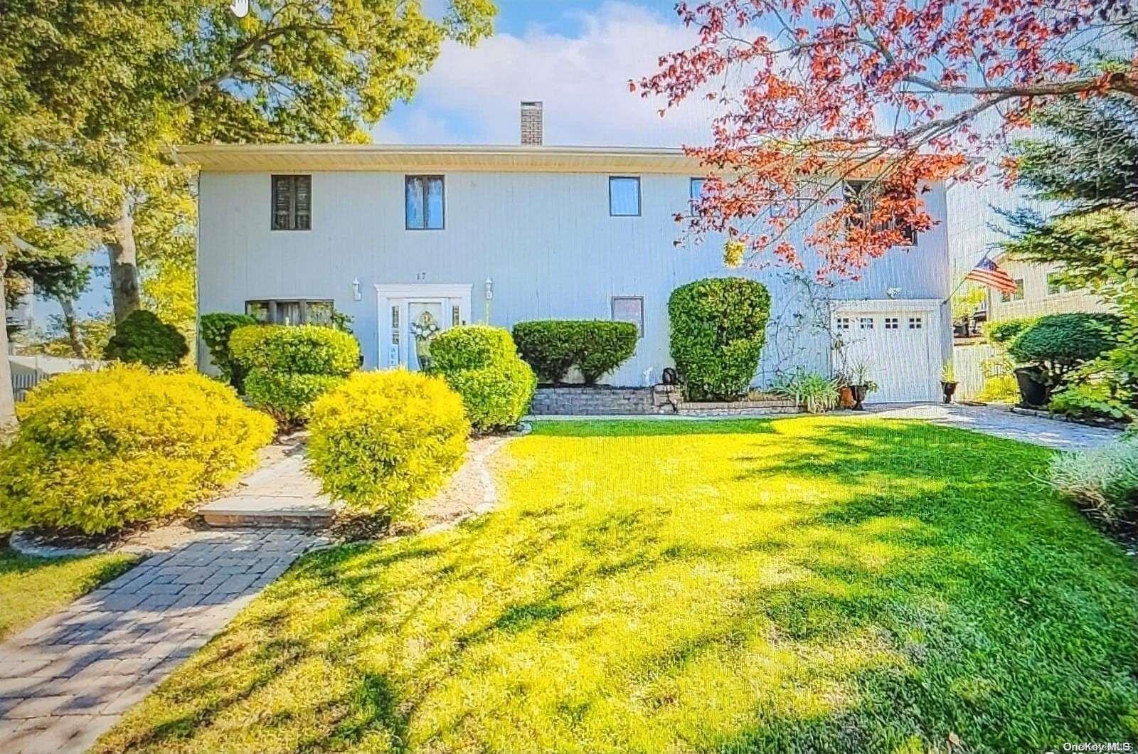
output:
{"label": "upper tier of the two-tiered shrub left of the front door", "polygon": [[354,337],[318,325],[239,327],[229,336],[229,349],[246,369],[343,377],[360,366]]}

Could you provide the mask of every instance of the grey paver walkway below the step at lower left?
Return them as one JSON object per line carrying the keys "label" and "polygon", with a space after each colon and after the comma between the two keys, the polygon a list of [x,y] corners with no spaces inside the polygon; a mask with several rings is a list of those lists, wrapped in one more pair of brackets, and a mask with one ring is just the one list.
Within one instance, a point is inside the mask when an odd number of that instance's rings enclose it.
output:
{"label": "grey paver walkway below the step at lower left", "polygon": [[0,644],[0,753],[85,751],[320,542],[284,530],[198,532]]}

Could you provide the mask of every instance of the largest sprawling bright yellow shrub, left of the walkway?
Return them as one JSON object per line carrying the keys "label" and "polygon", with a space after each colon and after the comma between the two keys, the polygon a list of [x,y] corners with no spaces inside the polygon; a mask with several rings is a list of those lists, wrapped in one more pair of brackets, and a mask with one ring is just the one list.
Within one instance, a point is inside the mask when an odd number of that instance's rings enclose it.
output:
{"label": "largest sprawling bright yellow shrub, left of the walkway", "polygon": [[0,530],[106,532],[232,481],[273,423],[203,375],[116,366],[53,377],[19,405],[0,456]]}

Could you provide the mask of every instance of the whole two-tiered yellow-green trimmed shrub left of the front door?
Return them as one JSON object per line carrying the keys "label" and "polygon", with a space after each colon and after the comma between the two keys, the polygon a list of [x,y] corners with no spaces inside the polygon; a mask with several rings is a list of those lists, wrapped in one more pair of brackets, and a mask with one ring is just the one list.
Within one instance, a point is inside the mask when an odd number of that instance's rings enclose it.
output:
{"label": "whole two-tiered yellow-green trimmed shrub left of the front door", "polygon": [[308,417],[312,402],[344,382],[360,363],[360,344],[318,325],[239,327],[229,337],[233,360],[247,370],[245,394],[281,426]]}

